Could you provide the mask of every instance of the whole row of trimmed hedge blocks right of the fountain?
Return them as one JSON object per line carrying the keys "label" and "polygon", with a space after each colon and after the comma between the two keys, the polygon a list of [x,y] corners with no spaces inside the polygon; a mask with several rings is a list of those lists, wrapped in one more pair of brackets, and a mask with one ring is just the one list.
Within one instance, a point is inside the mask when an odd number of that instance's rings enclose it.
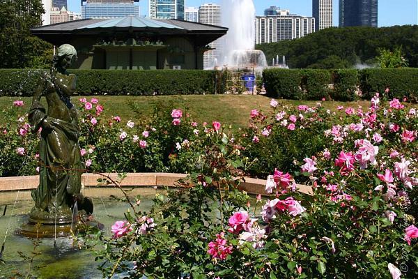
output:
{"label": "whole row of trimmed hedge blocks right of the fountain", "polygon": [[[376,92],[387,98],[406,97],[418,101],[418,68],[392,69],[344,69],[344,70],[295,70],[267,69],[263,71],[263,83],[268,96],[295,100],[355,100],[372,98]],[[334,86],[328,86],[334,84]],[[332,88],[331,88],[332,87]],[[362,94],[360,94],[360,91]]]}

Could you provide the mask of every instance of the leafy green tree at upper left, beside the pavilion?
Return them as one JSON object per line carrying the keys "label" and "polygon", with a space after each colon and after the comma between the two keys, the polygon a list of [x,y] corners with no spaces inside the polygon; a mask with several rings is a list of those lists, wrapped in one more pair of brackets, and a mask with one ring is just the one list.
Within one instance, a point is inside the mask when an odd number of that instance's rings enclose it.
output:
{"label": "leafy green tree at upper left, beside the pavilion", "polygon": [[44,12],[40,0],[0,1],[0,68],[44,66],[38,57],[52,46],[31,36],[31,28],[42,24]]}

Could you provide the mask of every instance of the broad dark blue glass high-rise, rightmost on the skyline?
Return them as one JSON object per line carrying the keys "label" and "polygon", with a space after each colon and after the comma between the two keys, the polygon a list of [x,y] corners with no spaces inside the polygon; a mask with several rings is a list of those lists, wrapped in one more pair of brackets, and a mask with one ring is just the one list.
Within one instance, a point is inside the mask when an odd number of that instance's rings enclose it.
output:
{"label": "broad dark blue glass high-rise, rightmost on the skyline", "polygon": [[378,27],[378,0],[339,0],[339,27]]}

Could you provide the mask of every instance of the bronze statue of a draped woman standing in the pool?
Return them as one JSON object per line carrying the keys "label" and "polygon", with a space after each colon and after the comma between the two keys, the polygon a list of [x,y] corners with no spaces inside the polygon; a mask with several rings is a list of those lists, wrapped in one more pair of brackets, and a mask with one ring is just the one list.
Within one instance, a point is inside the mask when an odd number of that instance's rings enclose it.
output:
{"label": "bronze statue of a draped woman standing in the pool", "polygon": [[[75,92],[75,75],[67,72],[77,60],[72,45],[61,45],[52,59],[49,73],[42,73],[33,96],[29,122],[33,133],[40,132],[40,181],[32,198],[36,205],[31,211],[32,223],[71,223],[72,206],[93,211],[93,204],[80,194],[82,163],[78,143],[78,112],[71,103]],[[47,109],[40,103],[45,96]]]}

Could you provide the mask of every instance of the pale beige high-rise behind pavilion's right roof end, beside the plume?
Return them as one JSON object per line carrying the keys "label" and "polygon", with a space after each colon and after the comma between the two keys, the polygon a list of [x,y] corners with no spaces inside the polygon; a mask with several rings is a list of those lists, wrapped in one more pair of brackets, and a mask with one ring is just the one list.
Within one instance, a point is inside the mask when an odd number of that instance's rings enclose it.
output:
{"label": "pale beige high-rise behind pavilion's right roof end, beside the plume", "polygon": [[[206,3],[199,8],[199,22],[204,24],[211,24],[221,26],[221,6],[214,3]],[[212,68],[217,66],[215,59],[219,57],[220,39],[215,40],[209,44],[212,50],[208,50],[203,54],[203,68]]]}

